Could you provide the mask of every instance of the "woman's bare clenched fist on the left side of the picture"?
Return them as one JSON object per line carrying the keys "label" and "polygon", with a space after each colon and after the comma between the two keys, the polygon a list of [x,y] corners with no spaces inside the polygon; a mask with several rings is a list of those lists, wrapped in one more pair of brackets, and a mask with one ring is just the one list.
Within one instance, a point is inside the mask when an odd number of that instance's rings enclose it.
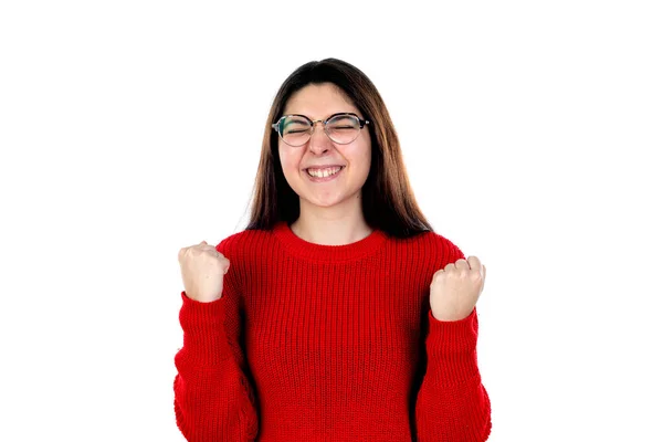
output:
{"label": "woman's bare clenched fist on the left side of the picture", "polygon": [[180,249],[177,259],[182,272],[185,292],[191,299],[210,303],[221,297],[223,275],[230,261],[217,248],[202,241],[200,244]]}

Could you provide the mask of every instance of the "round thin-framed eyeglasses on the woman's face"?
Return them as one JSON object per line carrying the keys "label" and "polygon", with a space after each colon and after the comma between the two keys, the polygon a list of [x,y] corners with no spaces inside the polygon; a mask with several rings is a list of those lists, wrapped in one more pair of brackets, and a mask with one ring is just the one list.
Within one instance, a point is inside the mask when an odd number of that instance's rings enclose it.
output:
{"label": "round thin-framed eyeglasses on the woman's face", "polygon": [[272,128],[278,133],[286,145],[298,147],[311,139],[315,124],[318,122],[323,123],[325,134],[329,139],[339,145],[347,145],[356,140],[364,126],[370,123],[368,119],[360,119],[350,113],[334,114],[325,120],[316,119],[315,122],[304,115],[284,115],[272,125]]}

